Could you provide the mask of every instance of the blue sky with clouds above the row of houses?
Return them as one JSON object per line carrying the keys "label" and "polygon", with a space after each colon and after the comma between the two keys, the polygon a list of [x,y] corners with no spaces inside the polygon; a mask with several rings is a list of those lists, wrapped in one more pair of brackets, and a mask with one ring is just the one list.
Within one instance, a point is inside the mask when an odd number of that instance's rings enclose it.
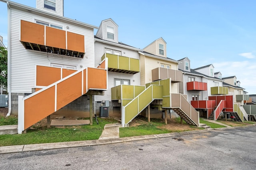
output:
{"label": "blue sky with clouds above the row of houses", "polygon": [[[36,0],[12,1],[36,7]],[[112,18],[118,41],[140,49],[162,37],[168,58],[188,57],[192,69],[213,64],[214,72],[235,75],[248,94],[256,94],[255,6],[255,0],[64,0],[64,16],[94,26]],[[0,23],[7,45],[2,2]]]}

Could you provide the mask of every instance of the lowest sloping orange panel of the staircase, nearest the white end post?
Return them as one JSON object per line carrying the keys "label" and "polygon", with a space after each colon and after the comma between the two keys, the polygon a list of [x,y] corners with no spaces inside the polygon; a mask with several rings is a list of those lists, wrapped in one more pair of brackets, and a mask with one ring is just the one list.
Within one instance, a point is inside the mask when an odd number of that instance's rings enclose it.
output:
{"label": "lowest sloping orange panel of the staircase, nearest the white end post", "polygon": [[24,129],[54,113],[55,86],[24,101]]}

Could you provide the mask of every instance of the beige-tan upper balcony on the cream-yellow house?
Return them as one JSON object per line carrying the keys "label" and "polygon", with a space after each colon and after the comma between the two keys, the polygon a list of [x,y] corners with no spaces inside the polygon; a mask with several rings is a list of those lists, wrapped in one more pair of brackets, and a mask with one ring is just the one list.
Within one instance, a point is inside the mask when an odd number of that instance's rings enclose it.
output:
{"label": "beige-tan upper balcony on the cream-yellow house", "polygon": [[152,69],[152,81],[171,78],[172,83],[182,82],[182,71],[158,67]]}

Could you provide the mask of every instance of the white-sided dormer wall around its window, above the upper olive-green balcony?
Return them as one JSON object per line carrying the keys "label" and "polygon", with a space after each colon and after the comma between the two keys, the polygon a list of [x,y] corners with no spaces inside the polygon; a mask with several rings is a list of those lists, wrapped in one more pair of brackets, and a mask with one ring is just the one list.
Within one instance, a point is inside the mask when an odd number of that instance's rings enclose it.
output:
{"label": "white-sided dormer wall around its window, above the upper olive-green balcony", "polygon": [[[107,38],[107,26],[114,28],[114,40]],[[102,35],[103,40],[118,43],[118,26],[116,26],[116,24],[112,22],[112,20],[106,20],[102,22]]]}

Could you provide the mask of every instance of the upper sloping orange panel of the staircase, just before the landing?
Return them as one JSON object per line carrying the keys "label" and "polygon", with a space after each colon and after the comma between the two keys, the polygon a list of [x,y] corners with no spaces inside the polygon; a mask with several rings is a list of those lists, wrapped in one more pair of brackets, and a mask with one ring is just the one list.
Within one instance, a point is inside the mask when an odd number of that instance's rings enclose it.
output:
{"label": "upper sloping orange panel of the staircase, just before the landing", "polygon": [[57,84],[57,110],[82,95],[82,72]]}

